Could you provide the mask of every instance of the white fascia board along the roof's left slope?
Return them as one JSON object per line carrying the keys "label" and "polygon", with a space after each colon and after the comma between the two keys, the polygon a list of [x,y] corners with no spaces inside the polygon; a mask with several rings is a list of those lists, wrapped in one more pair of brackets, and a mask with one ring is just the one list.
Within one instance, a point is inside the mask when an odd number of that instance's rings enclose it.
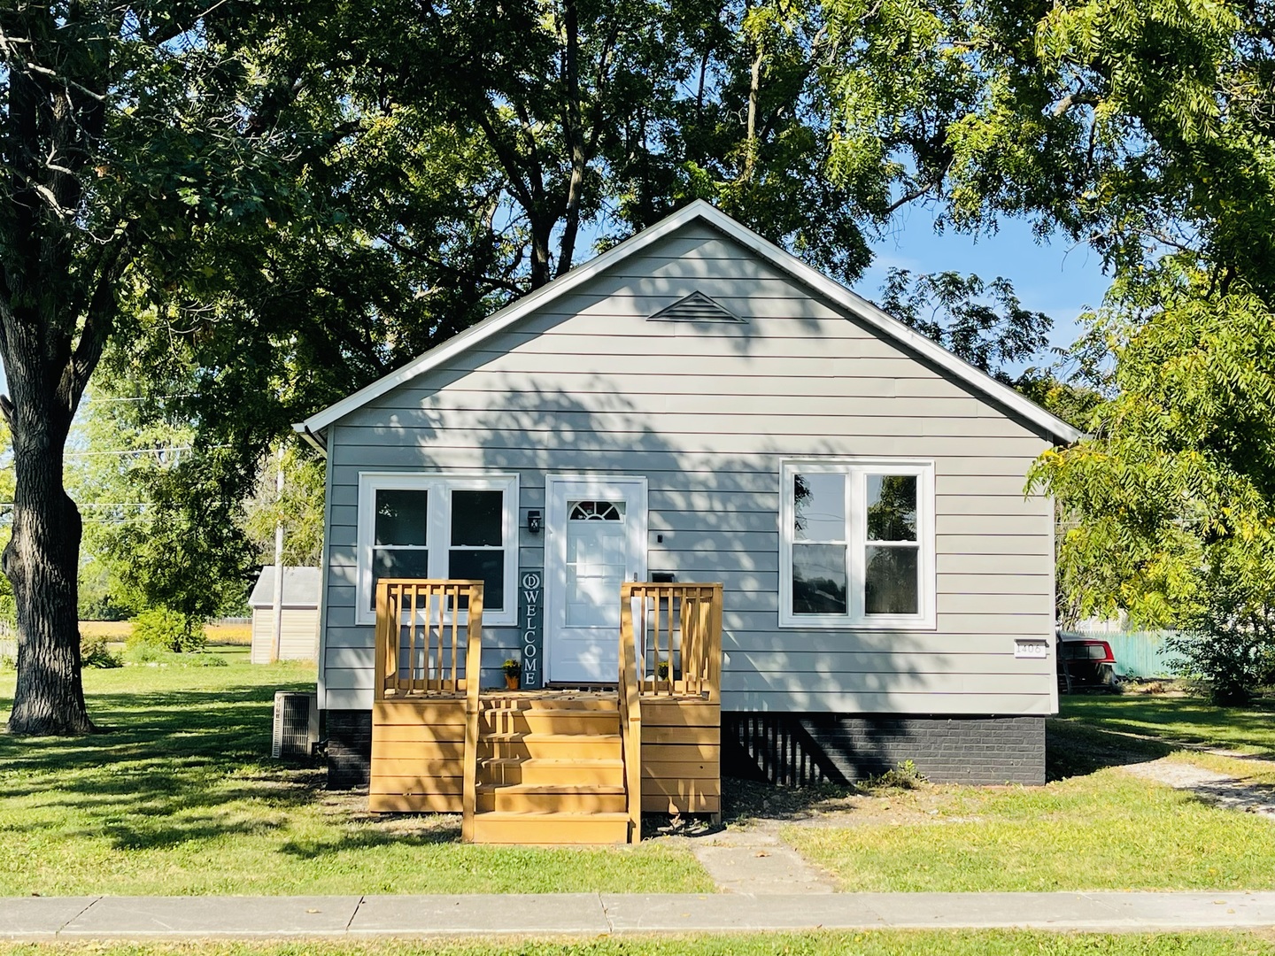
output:
{"label": "white fascia board along the roof's left slope", "polygon": [[[667,219],[662,219],[655,223],[649,229],[643,229],[636,236],[625,240],[618,246],[615,246],[613,249],[603,252],[601,256],[589,260],[579,269],[572,269],[560,279],[555,279],[547,286],[542,286],[536,289],[536,292],[523,296],[516,302],[511,302],[500,311],[492,312],[477,325],[472,325],[464,331],[453,335],[442,344],[431,348],[428,352],[418,356],[417,358],[413,358],[398,371],[390,372],[384,379],[377,379],[371,385],[360,389],[353,395],[343,398],[340,402],[329,405],[321,412],[316,412],[310,416],[310,418],[293,427],[297,428],[297,431],[305,430],[311,433],[319,433],[323,428],[326,428],[333,422],[344,418],[351,412],[357,412],[368,402],[375,402],[388,391],[397,389],[399,385],[403,385],[418,375],[423,375],[431,368],[436,368],[444,362],[454,358],[470,345],[476,345],[483,339],[507,329],[524,315],[528,315],[547,302],[552,302],[558,296],[566,294],[581,283],[585,283],[595,277],[603,269],[627,259],[634,252],[641,251],[653,242],[658,242],[664,238],[664,236],[680,229],[692,219],[704,217],[704,210],[706,209],[713,209],[713,206],[704,200],[695,200],[690,205],[683,206],[669,215]],[[717,210],[714,209],[713,212]]]}

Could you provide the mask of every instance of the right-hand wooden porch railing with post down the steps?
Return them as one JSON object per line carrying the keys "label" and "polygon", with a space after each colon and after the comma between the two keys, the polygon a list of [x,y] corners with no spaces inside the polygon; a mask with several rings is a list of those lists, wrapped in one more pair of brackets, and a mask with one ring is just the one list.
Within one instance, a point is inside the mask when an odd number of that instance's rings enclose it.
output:
{"label": "right-hand wooden porch railing with post down the steps", "polygon": [[720,584],[621,585],[618,691],[629,841],[638,843],[641,840],[641,702],[692,696],[720,702]]}

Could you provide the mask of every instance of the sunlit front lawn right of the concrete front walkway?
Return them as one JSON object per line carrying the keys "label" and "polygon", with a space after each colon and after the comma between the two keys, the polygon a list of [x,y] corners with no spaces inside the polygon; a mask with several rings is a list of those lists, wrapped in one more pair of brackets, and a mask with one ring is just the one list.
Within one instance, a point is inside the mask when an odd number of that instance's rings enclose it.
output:
{"label": "sunlit front lawn right of the concrete front walkway", "polygon": [[[1065,779],[882,792],[862,823],[787,826],[783,836],[843,890],[1275,888],[1269,820],[1103,766],[1172,753],[1159,742],[1112,738],[1053,721],[1051,765]],[[894,812],[875,812],[881,802]]]}

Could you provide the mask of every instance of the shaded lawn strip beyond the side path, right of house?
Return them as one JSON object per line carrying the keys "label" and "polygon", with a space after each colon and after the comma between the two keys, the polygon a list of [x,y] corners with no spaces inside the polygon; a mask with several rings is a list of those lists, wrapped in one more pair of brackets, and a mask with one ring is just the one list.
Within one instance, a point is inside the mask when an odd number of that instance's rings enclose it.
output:
{"label": "shaded lawn strip beyond the side path, right of house", "polygon": [[1275,702],[1215,707],[1196,697],[1144,695],[1063,696],[1060,716],[1089,727],[1162,741],[1275,757]]}

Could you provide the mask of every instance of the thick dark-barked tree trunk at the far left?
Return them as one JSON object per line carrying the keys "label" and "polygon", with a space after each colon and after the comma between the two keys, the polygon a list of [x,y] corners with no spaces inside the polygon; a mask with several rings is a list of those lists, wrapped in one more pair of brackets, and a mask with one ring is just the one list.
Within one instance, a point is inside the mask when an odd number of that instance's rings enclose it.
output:
{"label": "thick dark-barked tree trunk at the far left", "polygon": [[126,263],[126,231],[98,226],[92,235],[82,222],[91,217],[80,177],[99,145],[110,88],[110,41],[96,38],[113,28],[78,4],[61,20],[47,6],[4,13],[0,40],[24,45],[0,42],[8,73],[0,166],[9,176],[0,182],[0,358],[11,395],[0,396],[0,412],[13,432],[17,479],[3,557],[18,612],[9,732],[91,733],[76,614],[82,525],[62,461]]}

